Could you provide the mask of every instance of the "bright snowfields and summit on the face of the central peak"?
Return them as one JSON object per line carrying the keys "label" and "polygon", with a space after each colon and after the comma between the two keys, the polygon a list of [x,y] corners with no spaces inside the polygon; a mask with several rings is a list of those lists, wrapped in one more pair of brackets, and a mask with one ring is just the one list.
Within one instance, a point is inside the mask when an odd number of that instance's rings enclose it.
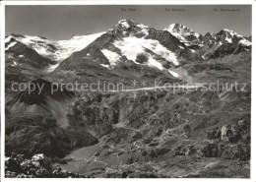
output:
{"label": "bright snowfields and summit on the face of the central peak", "polygon": [[[113,45],[121,50],[119,54],[107,49],[101,50],[110,61],[110,66],[114,66],[114,60],[118,60],[121,56],[125,56],[135,64],[144,64],[137,59],[138,55],[144,54],[149,59],[148,63],[146,63],[148,66],[157,67],[162,70],[162,65],[147,50],[161,55],[169,63],[178,65],[179,63],[173,52],[162,46],[158,40],[146,38],[150,33],[149,30],[149,27],[136,24],[130,20],[121,20],[113,30],[109,30],[108,32],[114,35],[120,36],[119,33],[122,34],[120,39],[113,41]],[[181,46],[181,48],[183,47]],[[114,55],[117,58],[114,58]]]}

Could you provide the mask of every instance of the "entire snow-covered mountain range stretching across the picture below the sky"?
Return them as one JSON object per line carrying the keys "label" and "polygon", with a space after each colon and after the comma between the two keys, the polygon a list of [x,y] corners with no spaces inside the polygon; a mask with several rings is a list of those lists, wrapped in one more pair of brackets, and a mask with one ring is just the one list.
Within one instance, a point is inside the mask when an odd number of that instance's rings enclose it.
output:
{"label": "entire snow-covered mountain range stretching across the picture below the sky", "polygon": [[[151,73],[186,80],[185,67],[188,66],[185,65],[249,51],[251,46],[249,38],[233,30],[208,32],[202,36],[179,24],[156,30],[131,20],[120,20],[110,30],[75,35],[69,40],[12,34],[5,41],[11,67],[25,62],[34,66],[38,60],[49,60],[51,63],[43,66],[44,72],[55,70],[55,78],[67,79],[81,77],[89,72],[88,68],[94,67],[92,74],[96,76],[103,72],[103,78],[111,77],[113,73],[117,76],[126,74],[128,78]],[[34,63],[33,59],[25,61],[25,53],[18,54],[14,48],[17,45],[32,49],[40,59],[36,58]]]}

